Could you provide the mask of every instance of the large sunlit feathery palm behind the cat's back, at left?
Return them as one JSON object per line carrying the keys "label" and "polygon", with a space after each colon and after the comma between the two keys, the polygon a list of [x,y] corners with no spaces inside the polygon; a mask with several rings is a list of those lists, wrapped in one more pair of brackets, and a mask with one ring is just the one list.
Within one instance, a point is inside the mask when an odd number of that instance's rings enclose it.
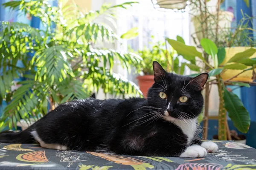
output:
{"label": "large sunlit feathery palm behind the cat's back, at left", "polygon": [[[124,96],[141,92],[133,82],[113,73],[114,60],[130,69],[140,68],[141,57],[113,49],[96,48],[100,42],[118,39],[113,30],[97,23],[101,16],[113,17],[115,9],[126,9],[133,2],[104,5],[99,11],[83,14],[76,6],[46,0],[17,0],[4,4],[40,18],[46,29],[23,23],[0,23],[0,103],[7,102],[0,119],[0,130],[16,127],[24,119],[40,119],[60,103],[86,98],[102,88],[105,93]],[[32,55],[32,57],[31,57]],[[22,62],[23,67],[18,67]],[[101,65],[102,64],[102,65]],[[26,80],[12,91],[17,77]]]}

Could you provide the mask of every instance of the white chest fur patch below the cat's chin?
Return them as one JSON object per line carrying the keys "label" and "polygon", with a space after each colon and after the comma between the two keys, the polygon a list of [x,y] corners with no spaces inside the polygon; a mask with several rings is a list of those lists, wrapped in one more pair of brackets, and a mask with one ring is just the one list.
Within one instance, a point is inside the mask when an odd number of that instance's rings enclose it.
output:
{"label": "white chest fur patch below the cat's chin", "polygon": [[173,123],[180,127],[182,132],[188,137],[187,144],[190,144],[197,130],[197,119],[183,119],[182,121],[176,119]]}

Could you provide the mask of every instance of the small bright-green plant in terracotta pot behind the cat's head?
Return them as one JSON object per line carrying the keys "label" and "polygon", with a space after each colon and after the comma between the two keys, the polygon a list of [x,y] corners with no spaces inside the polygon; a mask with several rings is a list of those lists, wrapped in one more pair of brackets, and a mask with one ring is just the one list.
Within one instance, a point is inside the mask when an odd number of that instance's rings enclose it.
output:
{"label": "small bright-green plant in terracotta pot behind the cat's head", "polygon": [[[177,37],[179,38],[179,36]],[[153,61],[160,62],[163,68],[167,68],[168,72],[181,75],[184,73],[185,62],[181,62],[177,57],[177,52],[173,48],[168,49],[168,46],[166,42],[156,42],[152,48],[143,48],[143,50],[138,51],[143,59],[141,68],[143,75],[138,76],[137,79],[144,97],[147,96],[148,89],[154,84]]]}

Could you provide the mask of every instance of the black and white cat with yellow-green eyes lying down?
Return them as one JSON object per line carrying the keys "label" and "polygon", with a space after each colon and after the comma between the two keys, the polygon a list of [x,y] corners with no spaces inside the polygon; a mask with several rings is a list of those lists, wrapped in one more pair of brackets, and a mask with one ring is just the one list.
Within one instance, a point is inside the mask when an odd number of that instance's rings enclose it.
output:
{"label": "black and white cat with yellow-green eyes lying down", "polygon": [[26,130],[0,133],[0,142],[137,156],[195,158],[215,152],[215,143],[197,137],[208,74],[192,78],[167,73],[158,62],[153,67],[155,82],[147,99],[66,102]]}

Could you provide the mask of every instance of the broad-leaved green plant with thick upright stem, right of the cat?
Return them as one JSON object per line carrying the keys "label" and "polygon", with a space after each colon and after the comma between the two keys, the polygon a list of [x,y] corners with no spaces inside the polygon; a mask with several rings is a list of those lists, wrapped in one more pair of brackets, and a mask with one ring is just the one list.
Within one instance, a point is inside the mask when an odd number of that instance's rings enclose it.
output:
{"label": "broad-leaved green plant with thick upright stem, right of the cat", "polygon": [[[249,82],[233,81],[239,74],[244,73],[247,70],[253,70],[252,77],[255,77],[256,71],[256,58],[250,59],[250,57],[256,52],[256,48],[250,48],[241,53],[235,54],[231,59],[221,65],[224,61],[226,54],[224,48],[217,48],[212,40],[203,38],[201,39],[201,46],[203,52],[197,51],[193,46],[188,46],[180,41],[167,39],[169,44],[178,52],[178,54],[183,56],[190,56],[191,58],[197,58],[199,62],[204,63],[202,66],[197,66],[201,71],[209,72],[209,79],[207,84],[214,83],[218,85],[219,94],[219,113],[218,113],[218,139],[220,140],[231,140],[230,130],[227,124],[226,111],[228,111],[228,116],[233,121],[235,127],[246,133],[250,126],[250,116],[248,111],[244,108],[243,103],[236,94],[232,91],[228,91],[225,85],[240,85],[240,86],[250,86]],[[209,59],[203,57],[205,54],[210,56]],[[207,67],[205,67],[206,65]],[[247,68],[249,66],[249,68]],[[239,74],[231,77],[230,79],[223,80],[222,75],[229,70],[239,70]],[[195,74],[194,76],[196,76]]]}

